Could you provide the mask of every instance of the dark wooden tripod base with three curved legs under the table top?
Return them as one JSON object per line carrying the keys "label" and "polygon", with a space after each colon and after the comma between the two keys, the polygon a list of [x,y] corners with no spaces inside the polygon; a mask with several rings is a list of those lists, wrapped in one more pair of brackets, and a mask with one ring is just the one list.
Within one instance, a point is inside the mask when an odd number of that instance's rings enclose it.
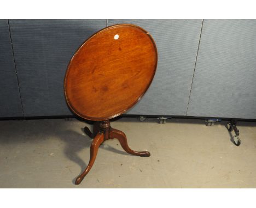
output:
{"label": "dark wooden tripod base with three curved legs under the table top", "polygon": [[124,132],[121,132],[117,129],[113,129],[110,126],[109,120],[107,121],[100,121],[95,122],[94,124],[94,132],[92,133],[88,127],[84,128],[84,131],[86,134],[88,134],[89,137],[94,138],[94,140],[91,143],[91,149],[90,149],[90,161],[88,163],[88,166],[84,170],[84,172],[78,176],[78,178],[75,180],[75,185],[78,185],[85,177],[86,174],[89,173],[91,167],[94,164],[94,161],[97,156],[98,148],[105,140],[108,139],[114,139],[117,138],[122,146],[122,148],[131,155],[141,156],[141,157],[149,157],[150,153],[148,151],[134,151],[129,148],[127,144],[127,138],[124,134]]}

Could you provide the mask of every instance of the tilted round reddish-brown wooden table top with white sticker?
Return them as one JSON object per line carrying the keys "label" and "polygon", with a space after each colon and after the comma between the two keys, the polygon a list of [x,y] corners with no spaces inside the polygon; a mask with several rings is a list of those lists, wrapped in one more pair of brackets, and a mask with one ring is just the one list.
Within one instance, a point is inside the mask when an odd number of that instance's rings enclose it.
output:
{"label": "tilted round reddish-brown wooden table top with white sticker", "polygon": [[158,55],[152,36],[135,25],[100,30],[69,62],[65,95],[69,107],[88,120],[108,120],[127,111],[146,93]]}

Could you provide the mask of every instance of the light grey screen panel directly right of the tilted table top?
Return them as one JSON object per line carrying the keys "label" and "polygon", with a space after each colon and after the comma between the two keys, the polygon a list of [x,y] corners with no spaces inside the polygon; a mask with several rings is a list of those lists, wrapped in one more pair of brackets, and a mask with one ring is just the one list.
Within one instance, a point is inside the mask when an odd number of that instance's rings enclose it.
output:
{"label": "light grey screen panel directly right of the tilted table top", "polygon": [[108,20],[146,29],[158,48],[158,68],[142,100],[127,114],[186,115],[202,20]]}

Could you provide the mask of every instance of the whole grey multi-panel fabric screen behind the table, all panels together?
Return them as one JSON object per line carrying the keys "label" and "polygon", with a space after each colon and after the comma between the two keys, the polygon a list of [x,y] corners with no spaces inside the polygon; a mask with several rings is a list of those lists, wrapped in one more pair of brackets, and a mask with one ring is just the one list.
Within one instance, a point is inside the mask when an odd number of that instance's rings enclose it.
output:
{"label": "whole grey multi-panel fabric screen behind the table, all panels together", "polygon": [[72,115],[69,60],[117,23],[148,30],[158,47],[152,85],[127,114],[256,119],[256,20],[0,20],[0,117]]}

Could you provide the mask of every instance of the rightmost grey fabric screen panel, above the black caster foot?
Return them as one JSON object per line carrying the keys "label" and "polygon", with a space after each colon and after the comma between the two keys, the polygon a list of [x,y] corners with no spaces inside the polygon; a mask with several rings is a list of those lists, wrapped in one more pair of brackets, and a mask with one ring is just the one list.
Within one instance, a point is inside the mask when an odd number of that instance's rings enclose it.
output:
{"label": "rightmost grey fabric screen panel, above the black caster foot", "polygon": [[188,114],[256,119],[256,20],[204,20]]}

